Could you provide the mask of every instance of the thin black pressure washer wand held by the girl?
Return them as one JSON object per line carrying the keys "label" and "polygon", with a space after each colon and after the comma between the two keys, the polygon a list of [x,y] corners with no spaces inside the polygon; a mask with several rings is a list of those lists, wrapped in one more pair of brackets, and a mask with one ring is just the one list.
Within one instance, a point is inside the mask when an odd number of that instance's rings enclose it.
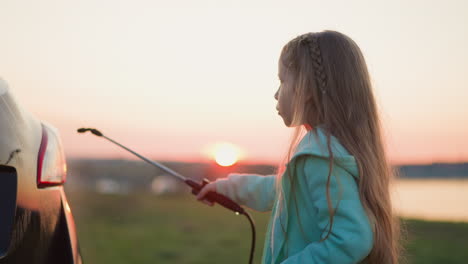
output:
{"label": "thin black pressure washer wand held by the girl", "polygon": [[[208,183],[210,183],[210,181],[206,178],[203,179],[202,183],[199,184],[191,179],[188,179],[182,175],[180,175],[179,173],[171,170],[170,168],[160,164],[160,163],[157,163],[155,161],[152,161],[152,160],[149,160],[147,158],[145,158],[144,156],[136,153],[135,151],[123,146],[122,144],[104,136],[104,134],[102,134],[99,130],[97,129],[94,129],[94,128],[79,128],[78,130],[78,133],[85,133],[87,131],[90,131],[91,133],[93,133],[94,135],[98,136],[98,137],[103,137],[109,141],[111,141],[112,143],[124,148],[125,150],[133,153],[134,155],[136,155],[137,157],[139,157],[140,159],[148,162],[149,164],[153,165],[153,166],[156,166],[160,169],[162,169],[163,171],[179,178],[180,180],[184,181],[187,185],[189,185],[190,187],[192,187],[192,194],[194,195],[197,195],[201,189],[203,189],[203,187],[205,187],[205,185],[207,185]],[[217,202],[219,203],[220,205],[226,207],[227,209],[231,210],[231,211],[234,211],[236,214],[245,214],[245,210],[244,208],[240,207],[236,202],[232,201],[231,199],[229,199],[228,197],[222,195],[222,194],[219,194],[219,193],[216,193],[216,192],[208,192],[206,194],[206,199],[210,202]]]}

